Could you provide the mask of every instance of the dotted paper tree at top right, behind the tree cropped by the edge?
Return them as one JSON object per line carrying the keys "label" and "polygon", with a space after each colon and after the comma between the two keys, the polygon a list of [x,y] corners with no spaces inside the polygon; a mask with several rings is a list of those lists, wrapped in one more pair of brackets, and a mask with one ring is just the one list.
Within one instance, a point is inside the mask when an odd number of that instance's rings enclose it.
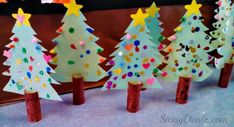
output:
{"label": "dotted paper tree at top right, behind the tree cropped by the edge", "polygon": [[215,12],[217,13],[215,15],[215,19],[217,19],[218,21],[213,23],[213,26],[216,28],[216,30],[212,31],[210,35],[215,38],[215,40],[211,41],[211,45],[218,48],[224,45],[226,41],[223,30],[226,28],[226,22],[231,10],[231,1],[219,0],[216,4],[219,6],[218,9],[215,10]]}

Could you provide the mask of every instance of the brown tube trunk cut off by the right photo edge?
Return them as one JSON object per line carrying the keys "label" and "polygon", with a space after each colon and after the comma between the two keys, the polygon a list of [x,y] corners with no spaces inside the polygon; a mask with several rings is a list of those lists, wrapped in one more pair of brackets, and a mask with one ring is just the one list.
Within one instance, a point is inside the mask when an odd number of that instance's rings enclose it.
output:
{"label": "brown tube trunk cut off by the right photo edge", "polygon": [[224,68],[221,70],[220,77],[219,77],[219,84],[218,86],[221,88],[227,88],[229,80],[231,78],[233,69],[233,64],[224,64]]}

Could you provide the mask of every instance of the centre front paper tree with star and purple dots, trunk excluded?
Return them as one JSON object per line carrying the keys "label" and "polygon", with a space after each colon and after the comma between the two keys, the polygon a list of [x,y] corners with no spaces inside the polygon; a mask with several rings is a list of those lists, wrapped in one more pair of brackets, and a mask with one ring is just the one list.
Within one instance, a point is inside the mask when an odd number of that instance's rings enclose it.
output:
{"label": "centre front paper tree with star and purple dots, trunk excluded", "polygon": [[133,21],[126,30],[126,35],[116,46],[118,48],[111,56],[108,65],[113,67],[108,72],[111,76],[103,90],[127,89],[128,82],[141,82],[144,88],[159,88],[160,85],[154,78],[153,72],[162,74],[157,67],[161,61],[157,46],[148,34],[149,29],[145,24],[148,14],[139,9],[131,15]]}

